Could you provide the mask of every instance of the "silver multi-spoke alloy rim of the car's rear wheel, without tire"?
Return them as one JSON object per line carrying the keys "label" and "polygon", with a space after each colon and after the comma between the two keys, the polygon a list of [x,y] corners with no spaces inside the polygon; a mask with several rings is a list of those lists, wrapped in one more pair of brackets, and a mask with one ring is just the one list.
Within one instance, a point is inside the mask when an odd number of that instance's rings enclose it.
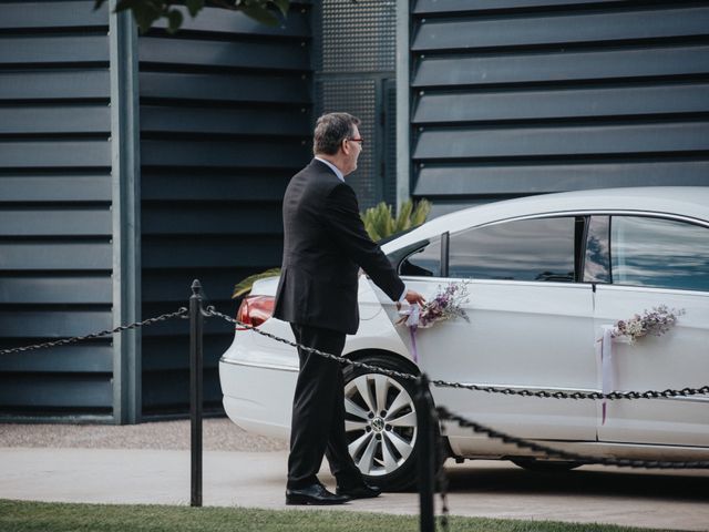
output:
{"label": "silver multi-spoke alloy rim of the car's rear wheel, without tire", "polygon": [[411,456],[417,411],[394,379],[380,374],[356,377],[345,386],[345,411],[348,450],[363,474],[390,474]]}

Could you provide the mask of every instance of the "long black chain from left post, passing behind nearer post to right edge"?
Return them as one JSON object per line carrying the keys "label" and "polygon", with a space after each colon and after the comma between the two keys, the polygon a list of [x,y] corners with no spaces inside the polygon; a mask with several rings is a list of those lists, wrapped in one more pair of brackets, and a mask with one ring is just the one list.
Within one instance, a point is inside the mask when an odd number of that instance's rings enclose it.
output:
{"label": "long black chain from left post, passing behind nearer post to right edge", "polygon": [[[294,341],[287,340],[285,338],[280,338],[276,335],[271,335],[270,332],[266,332],[265,330],[260,330],[258,327],[254,327],[253,325],[248,325],[245,324],[243,321],[239,321],[238,319],[234,319],[230,316],[227,316],[225,314],[222,314],[217,310],[215,310],[214,307],[207,307],[206,310],[206,316],[216,316],[218,318],[222,318],[226,321],[229,321],[238,327],[242,327],[244,329],[249,329],[254,332],[257,332],[261,336],[265,336],[266,338],[270,338],[271,340],[278,341],[280,344],[286,344],[287,346],[291,346],[295,348],[300,348],[305,351],[308,352],[312,352],[315,355],[319,355],[321,357],[325,358],[329,358],[330,360],[336,360],[340,364],[347,364],[347,365],[351,365],[356,368],[361,368],[361,369],[367,369],[369,371],[374,371],[374,372],[379,372],[382,375],[386,375],[388,377],[398,377],[400,379],[408,379],[408,380],[415,380],[417,376],[412,375],[412,374],[407,374],[407,372],[402,372],[402,371],[395,371],[392,369],[384,369],[381,368],[379,366],[372,366],[370,364],[366,364],[366,362],[359,362],[357,360],[351,360],[349,358],[345,358],[345,357],[338,357],[336,355],[332,355],[330,352],[323,352],[320,351],[318,349],[311,348],[311,347],[307,347],[307,346],[302,346],[299,344],[296,344]],[[669,397],[689,397],[689,396],[698,396],[698,395],[705,395],[705,393],[709,393],[709,385],[708,386],[702,386],[700,388],[682,388],[681,390],[672,390],[672,389],[667,389],[664,391],[655,391],[655,390],[648,390],[648,391],[612,391],[610,393],[603,393],[600,391],[590,391],[590,392],[584,392],[584,391],[573,391],[573,392],[565,392],[565,391],[544,391],[544,390],[540,390],[540,391],[532,391],[532,390],[526,390],[526,389],[515,389],[515,388],[506,388],[506,387],[500,387],[500,386],[481,386],[481,385],[464,385],[461,382],[451,382],[448,380],[431,380],[430,383],[432,386],[435,386],[438,388],[458,388],[458,389],[466,389],[466,390],[473,390],[473,391],[484,391],[487,393],[502,393],[505,396],[521,396],[521,397],[536,397],[536,398],[542,398],[542,399],[595,399],[595,400],[599,400],[599,399],[606,399],[606,400],[617,400],[617,399],[660,399],[660,398],[669,398]]]}

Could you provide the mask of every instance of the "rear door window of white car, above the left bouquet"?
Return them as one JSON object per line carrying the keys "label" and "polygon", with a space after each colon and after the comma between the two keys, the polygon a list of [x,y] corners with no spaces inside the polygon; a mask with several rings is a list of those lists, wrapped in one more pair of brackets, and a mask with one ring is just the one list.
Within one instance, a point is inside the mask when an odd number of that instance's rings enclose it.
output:
{"label": "rear door window of white car, above the left bouquet", "polygon": [[579,223],[573,216],[518,219],[452,234],[449,276],[573,283]]}

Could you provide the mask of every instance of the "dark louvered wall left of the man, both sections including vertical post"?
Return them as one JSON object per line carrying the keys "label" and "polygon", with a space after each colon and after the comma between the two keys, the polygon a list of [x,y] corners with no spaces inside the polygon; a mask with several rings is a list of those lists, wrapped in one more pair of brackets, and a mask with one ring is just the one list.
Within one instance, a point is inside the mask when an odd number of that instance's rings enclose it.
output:
{"label": "dark louvered wall left of the man, both sections including vertical post", "polygon": [[[233,286],[280,264],[282,193],[310,158],[309,2],[291,2],[279,29],[206,9],[177,35],[158,28],[135,48],[114,17],[109,34],[107,9],[93,3],[0,0],[3,348],[110,329],[141,291],[143,318],[174,311],[194,278],[234,311]],[[136,55],[132,82],[121,69]],[[126,170],[132,143],[140,180]],[[135,201],[141,212],[126,215]],[[136,257],[124,249],[131,238]],[[206,334],[205,399],[219,408],[216,365],[233,332],[208,320]],[[0,418],[184,413],[186,321],[143,329],[142,349],[130,335],[3,356]]]}

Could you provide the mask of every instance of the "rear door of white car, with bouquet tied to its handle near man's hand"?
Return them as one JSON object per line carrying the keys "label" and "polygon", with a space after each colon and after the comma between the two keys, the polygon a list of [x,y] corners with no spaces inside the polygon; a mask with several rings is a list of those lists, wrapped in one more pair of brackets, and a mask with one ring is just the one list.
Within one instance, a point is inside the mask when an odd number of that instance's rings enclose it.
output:
{"label": "rear door of white car, with bouquet tied to its handle near man's hand", "polygon": [[[408,287],[429,299],[451,282],[470,293],[470,323],[417,331],[422,370],[463,383],[595,389],[592,287],[576,283],[583,229],[575,216],[505,221],[442,235],[409,255],[400,269]],[[398,330],[411,347],[409,331]],[[436,403],[524,438],[596,437],[593,401],[432,391]]]}

